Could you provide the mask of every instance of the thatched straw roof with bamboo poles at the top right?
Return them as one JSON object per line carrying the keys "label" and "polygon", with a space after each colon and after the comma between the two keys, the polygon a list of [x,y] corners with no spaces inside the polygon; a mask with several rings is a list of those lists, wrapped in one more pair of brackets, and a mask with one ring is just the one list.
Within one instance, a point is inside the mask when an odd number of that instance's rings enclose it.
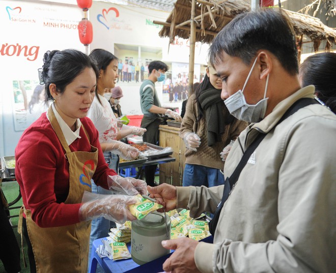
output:
{"label": "thatched straw roof with bamboo poles at the top right", "polygon": [[[175,7],[166,22],[162,24],[160,37],[175,36],[188,39],[190,36],[191,1],[177,0]],[[197,0],[194,21],[197,24],[195,41],[211,43],[216,34],[236,15],[250,10],[250,0]],[[283,9],[293,23],[298,37],[305,35],[314,42],[315,50],[321,41],[326,40],[326,48],[336,44],[336,30],[324,25],[320,19],[309,15]]]}

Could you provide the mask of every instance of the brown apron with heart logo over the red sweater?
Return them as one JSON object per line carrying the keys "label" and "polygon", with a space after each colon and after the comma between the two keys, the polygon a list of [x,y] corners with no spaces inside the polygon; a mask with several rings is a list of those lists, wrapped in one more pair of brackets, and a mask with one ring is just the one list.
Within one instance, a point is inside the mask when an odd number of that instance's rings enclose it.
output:
{"label": "brown apron with heart logo over the red sweater", "polygon": [[[64,203],[80,203],[84,191],[91,192],[91,178],[97,167],[98,149],[91,145],[91,152],[71,151],[51,107],[48,116],[69,162],[69,195]],[[85,128],[82,128],[89,139]],[[29,209],[24,209],[24,213],[38,273],[87,272],[91,221],[41,228],[32,220]]]}

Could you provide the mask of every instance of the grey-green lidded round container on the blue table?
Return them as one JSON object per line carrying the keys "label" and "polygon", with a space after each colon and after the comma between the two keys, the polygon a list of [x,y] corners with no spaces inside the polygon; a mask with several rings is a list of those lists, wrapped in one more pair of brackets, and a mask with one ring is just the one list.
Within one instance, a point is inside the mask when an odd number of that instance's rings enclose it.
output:
{"label": "grey-green lidded round container on the blue table", "polygon": [[171,238],[171,219],[165,214],[153,212],[141,220],[132,221],[131,256],[139,265],[170,253],[161,245]]}

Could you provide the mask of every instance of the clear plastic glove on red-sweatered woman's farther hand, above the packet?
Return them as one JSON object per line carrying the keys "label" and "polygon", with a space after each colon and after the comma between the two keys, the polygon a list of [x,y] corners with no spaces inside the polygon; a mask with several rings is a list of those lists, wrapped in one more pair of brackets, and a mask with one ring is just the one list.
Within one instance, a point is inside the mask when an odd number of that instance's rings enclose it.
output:
{"label": "clear plastic glove on red-sweatered woman's farther hand, above the packet", "polygon": [[120,175],[107,176],[108,189],[117,194],[126,195],[147,195],[147,184],[144,180],[133,177],[122,177]]}

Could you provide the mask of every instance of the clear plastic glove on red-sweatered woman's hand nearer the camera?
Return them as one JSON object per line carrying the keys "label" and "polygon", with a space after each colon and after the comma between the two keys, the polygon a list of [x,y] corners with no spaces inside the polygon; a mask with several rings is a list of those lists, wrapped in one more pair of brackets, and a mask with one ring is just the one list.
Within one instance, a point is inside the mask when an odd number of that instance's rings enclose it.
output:
{"label": "clear plastic glove on red-sweatered woman's hand nearer the camera", "polygon": [[84,192],[79,208],[79,220],[88,221],[99,217],[120,224],[126,220],[136,220],[128,210],[128,205],[135,204],[136,197],[127,195],[105,195]]}

